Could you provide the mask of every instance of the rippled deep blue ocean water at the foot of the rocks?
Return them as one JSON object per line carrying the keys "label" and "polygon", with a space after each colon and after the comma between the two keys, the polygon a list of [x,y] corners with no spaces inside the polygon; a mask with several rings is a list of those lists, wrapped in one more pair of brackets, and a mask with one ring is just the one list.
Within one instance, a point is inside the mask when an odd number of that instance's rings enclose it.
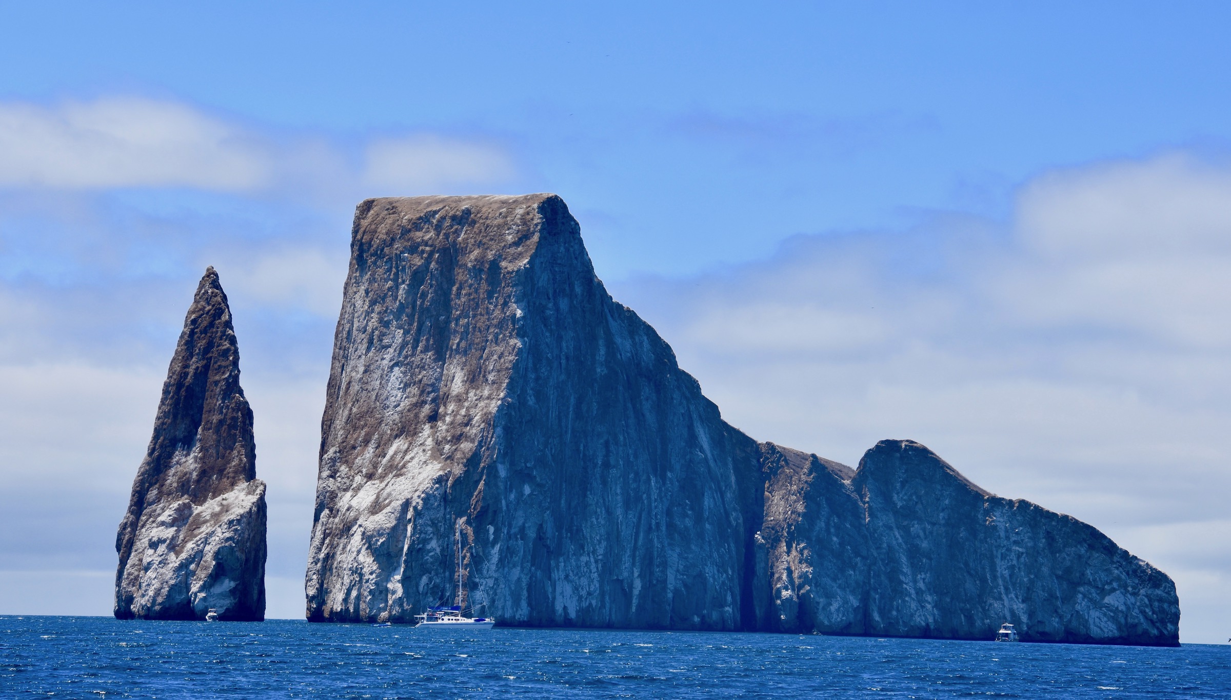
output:
{"label": "rippled deep blue ocean water at the foot of the rocks", "polygon": [[4,698],[1231,698],[1231,647],[0,616]]}

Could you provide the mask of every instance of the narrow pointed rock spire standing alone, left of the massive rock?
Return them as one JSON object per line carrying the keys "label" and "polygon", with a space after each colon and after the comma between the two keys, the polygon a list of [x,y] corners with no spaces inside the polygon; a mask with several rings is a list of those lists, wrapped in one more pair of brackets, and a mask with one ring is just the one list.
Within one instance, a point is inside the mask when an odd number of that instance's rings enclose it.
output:
{"label": "narrow pointed rock spire standing alone, left of the massive rock", "polygon": [[213,267],[183,321],[116,551],[117,618],[265,619],[265,482]]}

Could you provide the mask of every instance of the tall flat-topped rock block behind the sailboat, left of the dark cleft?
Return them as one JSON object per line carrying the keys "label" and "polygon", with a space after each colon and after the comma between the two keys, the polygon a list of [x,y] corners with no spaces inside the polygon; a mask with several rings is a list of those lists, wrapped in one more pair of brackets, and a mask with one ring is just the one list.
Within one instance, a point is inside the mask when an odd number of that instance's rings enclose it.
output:
{"label": "tall flat-topped rock block behind the sailboat, left of the dark cleft", "polygon": [[310,620],[411,620],[454,586],[502,624],[748,619],[757,445],[559,197],[359,204],[321,431]]}

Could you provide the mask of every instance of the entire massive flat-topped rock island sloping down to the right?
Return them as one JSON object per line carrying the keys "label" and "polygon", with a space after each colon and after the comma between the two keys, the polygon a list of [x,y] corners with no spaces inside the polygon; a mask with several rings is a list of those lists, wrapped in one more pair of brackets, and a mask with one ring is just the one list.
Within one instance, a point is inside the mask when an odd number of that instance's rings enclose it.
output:
{"label": "entire massive flat-topped rock island sloping down to the right", "polygon": [[352,236],[310,620],[1176,641],[1165,575],[922,445],[854,472],[728,426],[555,196],[369,199]]}

